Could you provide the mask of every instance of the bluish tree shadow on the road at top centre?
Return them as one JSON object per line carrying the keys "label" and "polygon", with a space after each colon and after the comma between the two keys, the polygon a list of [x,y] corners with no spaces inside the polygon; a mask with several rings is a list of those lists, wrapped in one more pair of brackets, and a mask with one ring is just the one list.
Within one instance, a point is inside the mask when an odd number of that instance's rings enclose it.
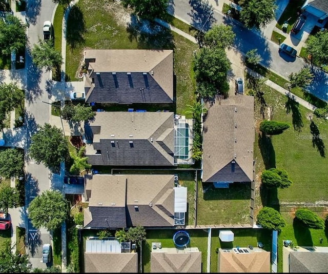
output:
{"label": "bluish tree shadow on the road at top centre", "polygon": [[189,0],[192,8],[188,15],[191,17],[191,25],[203,32],[207,32],[216,22],[213,17],[213,6],[208,0]]}

